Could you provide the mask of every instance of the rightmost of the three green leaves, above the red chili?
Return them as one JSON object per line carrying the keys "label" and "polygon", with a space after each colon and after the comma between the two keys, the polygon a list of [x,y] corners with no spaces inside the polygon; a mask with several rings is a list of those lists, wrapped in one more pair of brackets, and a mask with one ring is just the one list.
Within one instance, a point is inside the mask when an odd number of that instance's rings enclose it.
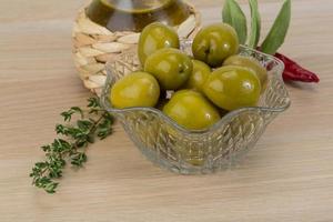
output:
{"label": "rightmost of the three green leaves, above the red chili", "polygon": [[261,50],[274,54],[283,44],[291,20],[291,0],[285,0],[273,27],[261,46]]}

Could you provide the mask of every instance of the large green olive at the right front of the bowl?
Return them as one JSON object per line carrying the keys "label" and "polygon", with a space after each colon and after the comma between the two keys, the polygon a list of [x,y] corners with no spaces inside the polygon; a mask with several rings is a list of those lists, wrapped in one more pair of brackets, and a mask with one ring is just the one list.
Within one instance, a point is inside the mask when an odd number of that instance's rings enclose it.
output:
{"label": "large green olive at the right front of the bowl", "polygon": [[261,84],[253,70],[226,65],[213,71],[204,84],[205,95],[224,110],[256,105]]}

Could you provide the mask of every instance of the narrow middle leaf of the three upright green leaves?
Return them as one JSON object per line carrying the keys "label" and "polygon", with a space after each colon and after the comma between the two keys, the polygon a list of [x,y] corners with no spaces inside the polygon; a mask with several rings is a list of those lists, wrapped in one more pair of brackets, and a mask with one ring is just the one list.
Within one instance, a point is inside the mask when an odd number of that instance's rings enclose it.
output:
{"label": "narrow middle leaf of the three upright green leaves", "polygon": [[249,0],[251,9],[251,32],[249,37],[249,47],[255,49],[260,39],[261,18],[258,9],[256,0]]}

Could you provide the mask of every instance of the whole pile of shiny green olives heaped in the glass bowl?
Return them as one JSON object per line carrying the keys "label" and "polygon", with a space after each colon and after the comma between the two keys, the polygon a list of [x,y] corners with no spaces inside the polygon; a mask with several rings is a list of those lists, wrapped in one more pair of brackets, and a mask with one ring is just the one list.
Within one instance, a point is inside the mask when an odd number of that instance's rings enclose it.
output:
{"label": "whole pile of shiny green olives heaped in the glass bowl", "polygon": [[189,56],[172,28],[151,23],[138,46],[142,70],[115,82],[110,101],[117,109],[154,107],[184,129],[208,129],[221,113],[255,107],[264,89],[266,70],[236,54],[239,47],[231,26],[214,23],[198,32]]}

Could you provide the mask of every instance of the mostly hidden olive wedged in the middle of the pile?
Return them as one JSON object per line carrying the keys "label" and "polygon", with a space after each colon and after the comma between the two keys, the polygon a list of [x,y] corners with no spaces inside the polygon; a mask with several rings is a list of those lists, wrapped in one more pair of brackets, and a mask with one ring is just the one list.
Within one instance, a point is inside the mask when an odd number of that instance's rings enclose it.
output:
{"label": "mostly hidden olive wedged in the middle of the pile", "polygon": [[199,60],[192,60],[192,63],[193,71],[185,84],[185,88],[203,92],[203,85],[211,73],[211,68],[206,63]]}

